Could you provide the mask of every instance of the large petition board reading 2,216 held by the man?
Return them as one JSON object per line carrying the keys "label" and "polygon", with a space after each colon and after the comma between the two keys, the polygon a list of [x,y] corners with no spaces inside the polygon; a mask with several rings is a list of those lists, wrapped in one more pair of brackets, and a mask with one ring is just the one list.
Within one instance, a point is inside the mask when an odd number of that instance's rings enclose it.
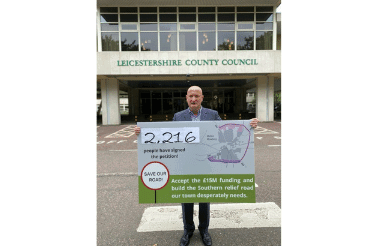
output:
{"label": "large petition board reading 2,216 held by the man", "polygon": [[249,120],[138,122],[139,203],[254,203]]}

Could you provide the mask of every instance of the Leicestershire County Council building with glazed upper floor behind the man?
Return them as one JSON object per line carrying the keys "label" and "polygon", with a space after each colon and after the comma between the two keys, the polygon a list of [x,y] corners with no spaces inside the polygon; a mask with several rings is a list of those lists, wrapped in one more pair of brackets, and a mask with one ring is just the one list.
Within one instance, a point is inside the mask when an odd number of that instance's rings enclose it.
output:
{"label": "Leicestershire County Council building with glazed upper floor behind the man", "polygon": [[[280,91],[280,0],[98,0],[97,95],[103,125],[171,120],[187,88],[222,119],[274,120]],[[255,94],[253,112],[250,94]]]}

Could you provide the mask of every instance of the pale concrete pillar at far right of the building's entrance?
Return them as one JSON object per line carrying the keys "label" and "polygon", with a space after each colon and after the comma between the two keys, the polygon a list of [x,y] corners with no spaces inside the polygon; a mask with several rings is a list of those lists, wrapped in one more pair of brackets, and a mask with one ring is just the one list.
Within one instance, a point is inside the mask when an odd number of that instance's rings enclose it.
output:
{"label": "pale concrete pillar at far right of the building's entrance", "polygon": [[256,118],[274,121],[274,77],[257,77],[256,88]]}

